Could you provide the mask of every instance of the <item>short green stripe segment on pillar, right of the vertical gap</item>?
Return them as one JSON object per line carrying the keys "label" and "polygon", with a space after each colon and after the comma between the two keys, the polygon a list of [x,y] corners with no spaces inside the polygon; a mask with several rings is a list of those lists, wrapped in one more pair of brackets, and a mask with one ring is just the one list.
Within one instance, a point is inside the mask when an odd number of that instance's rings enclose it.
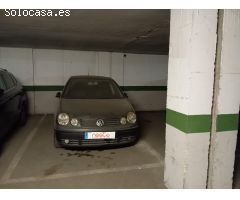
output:
{"label": "short green stripe segment on pillar, right of the vertical gap", "polygon": [[217,131],[238,130],[238,114],[221,114],[217,117]]}

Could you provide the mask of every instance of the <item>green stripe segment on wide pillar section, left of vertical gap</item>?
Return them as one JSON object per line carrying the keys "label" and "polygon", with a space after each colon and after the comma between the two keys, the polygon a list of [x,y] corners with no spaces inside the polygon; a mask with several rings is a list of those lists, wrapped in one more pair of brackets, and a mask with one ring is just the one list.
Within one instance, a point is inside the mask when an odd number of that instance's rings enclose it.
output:
{"label": "green stripe segment on wide pillar section, left of vertical gap", "polygon": [[167,109],[166,123],[184,133],[203,133],[211,130],[210,115],[185,115]]}

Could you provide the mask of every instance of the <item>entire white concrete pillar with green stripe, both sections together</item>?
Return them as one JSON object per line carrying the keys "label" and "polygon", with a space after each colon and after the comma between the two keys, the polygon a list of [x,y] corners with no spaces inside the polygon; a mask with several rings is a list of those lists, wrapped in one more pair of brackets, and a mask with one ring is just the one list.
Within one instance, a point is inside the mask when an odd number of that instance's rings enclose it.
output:
{"label": "entire white concrete pillar with green stripe, both sections together", "polygon": [[231,188],[240,102],[240,11],[172,10],[164,180]]}

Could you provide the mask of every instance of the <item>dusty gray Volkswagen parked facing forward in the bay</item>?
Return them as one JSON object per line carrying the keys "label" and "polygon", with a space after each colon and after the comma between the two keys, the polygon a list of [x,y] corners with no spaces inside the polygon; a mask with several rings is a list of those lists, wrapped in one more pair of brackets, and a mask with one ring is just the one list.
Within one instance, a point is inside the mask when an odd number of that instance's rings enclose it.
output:
{"label": "dusty gray Volkswagen parked facing forward in the bay", "polygon": [[60,104],[54,123],[55,147],[106,147],[138,141],[136,113],[113,79],[73,76],[56,97]]}

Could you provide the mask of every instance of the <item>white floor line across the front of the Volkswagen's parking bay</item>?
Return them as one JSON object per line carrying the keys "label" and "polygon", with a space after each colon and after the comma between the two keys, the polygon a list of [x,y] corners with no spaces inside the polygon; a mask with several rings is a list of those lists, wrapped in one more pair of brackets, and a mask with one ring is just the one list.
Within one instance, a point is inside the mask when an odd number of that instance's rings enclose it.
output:
{"label": "white floor line across the front of the Volkswagen's parking bay", "polygon": [[78,177],[78,176],[105,174],[105,173],[113,173],[113,172],[125,172],[125,171],[132,171],[132,170],[158,168],[158,167],[162,167],[162,164],[150,163],[150,164],[133,165],[128,167],[118,167],[118,168],[111,168],[111,169],[83,170],[79,172],[59,173],[59,174],[54,174],[46,177],[24,177],[24,178],[17,178],[17,179],[8,179],[1,184],[40,182],[40,181],[48,181],[48,180],[55,180],[55,179],[62,179],[62,178],[72,178],[72,177]]}

